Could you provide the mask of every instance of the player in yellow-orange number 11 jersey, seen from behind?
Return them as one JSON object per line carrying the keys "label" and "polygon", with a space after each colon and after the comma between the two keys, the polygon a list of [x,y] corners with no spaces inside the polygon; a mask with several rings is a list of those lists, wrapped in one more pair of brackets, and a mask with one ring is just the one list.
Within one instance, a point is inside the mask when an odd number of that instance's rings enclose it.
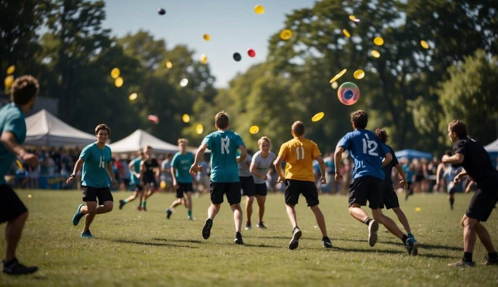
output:
{"label": "player in yellow-orange number 11 jersey, seen from behind", "polygon": [[[292,238],[289,242],[290,250],[298,247],[299,238],[302,235],[297,226],[296,210],[294,209],[301,193],[306,198],[306,203],[311,208],[311,211],[315,214],[316,223],[322,232],[323,247],[332,247],[332,243],[327,236],[325,218],[320,207],[318,207],[318,192],[313,176],[313,159],[316,159],[322,172],[322,184],[327,183],[325,179],[325,163],[318,145],[304,138],[305,132],[306,128],[302,122],[294,122],[291,127],[291,135],[294,138],[280,146],[278,156],[273,162],[279,174],[278,181],[285,181],[285,208],[293,228]],[[286,162],[285,175],[282,171],[283,161]]]}

